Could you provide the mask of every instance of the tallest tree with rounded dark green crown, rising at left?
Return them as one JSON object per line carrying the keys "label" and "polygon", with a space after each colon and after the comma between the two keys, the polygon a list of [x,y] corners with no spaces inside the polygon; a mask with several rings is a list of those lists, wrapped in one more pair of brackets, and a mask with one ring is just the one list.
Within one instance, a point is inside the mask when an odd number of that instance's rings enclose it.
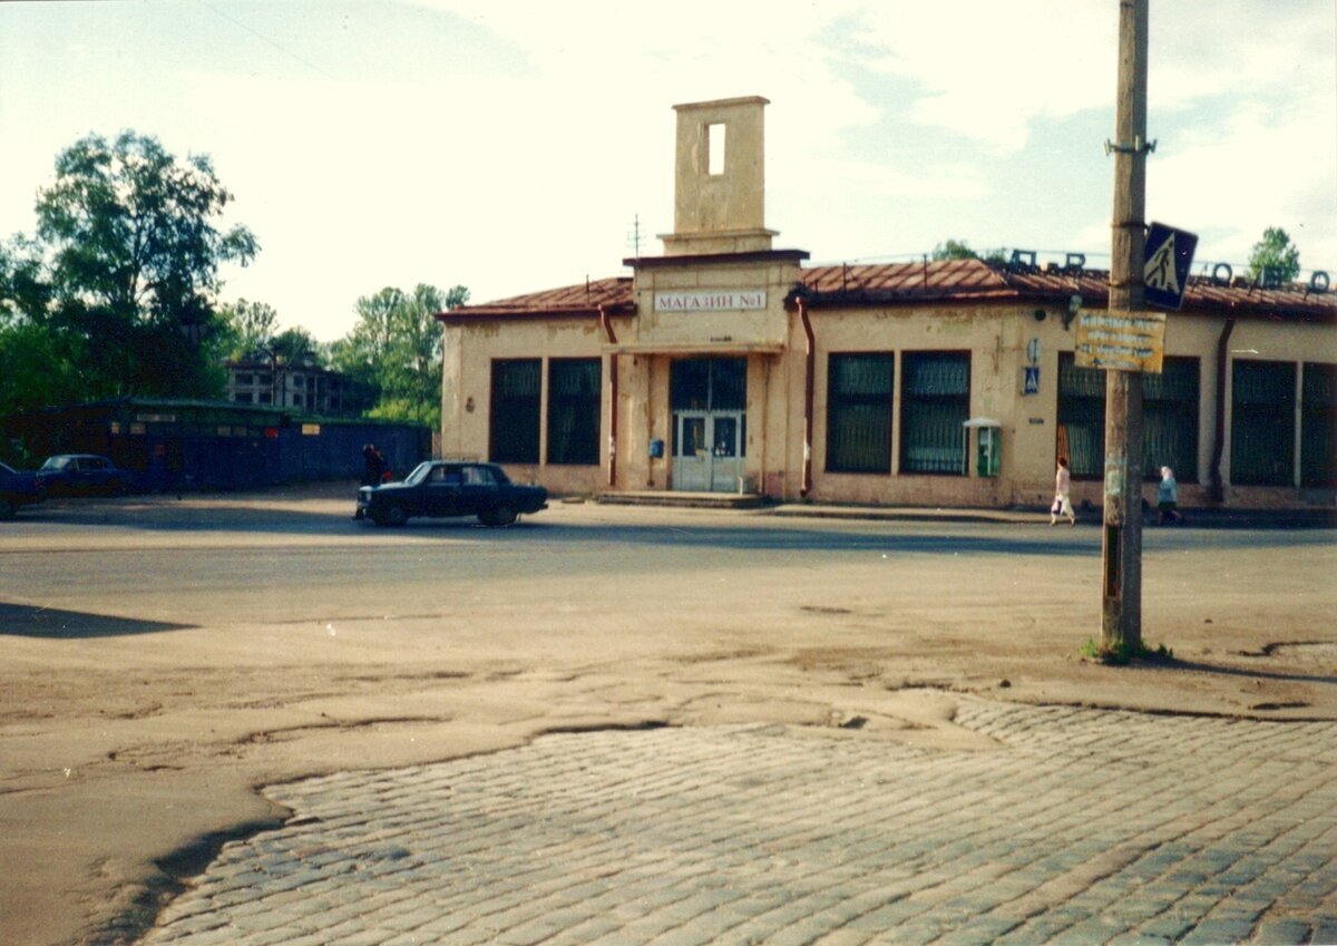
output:
{"label": "tallest tree with rounded dark green crown, rising at left", "polygon": [[37,239],[52,327],[96,353],[82,366],[86,396],[218,393],[206,345],[223,325],[218,267],[258,251],[246,227],[215,226],[230,200],[209,158],[178,160],[131,131],[88,135],[57,156]]}

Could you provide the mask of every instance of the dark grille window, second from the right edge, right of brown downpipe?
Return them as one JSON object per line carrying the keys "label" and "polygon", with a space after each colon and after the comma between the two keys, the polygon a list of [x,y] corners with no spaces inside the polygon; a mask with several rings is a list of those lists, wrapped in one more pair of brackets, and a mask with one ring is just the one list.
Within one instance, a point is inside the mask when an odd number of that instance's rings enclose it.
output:
{"label": "dark grille window, second from the right edge, right of brown downpipe", "polygon": [[1230,386],[1230,482],[1290,486],[1296,462],[1294,363],[1235,361]]}

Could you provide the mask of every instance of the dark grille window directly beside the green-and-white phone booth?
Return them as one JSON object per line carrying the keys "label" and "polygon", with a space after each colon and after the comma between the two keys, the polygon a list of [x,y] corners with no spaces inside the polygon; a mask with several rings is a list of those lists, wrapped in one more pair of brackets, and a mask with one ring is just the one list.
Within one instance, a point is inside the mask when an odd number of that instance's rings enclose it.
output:
{"label": "dark grille window directly beside the green-and-white phone booth", "polygon": [[901,355],[901,473],[965,474],[969,351]]}

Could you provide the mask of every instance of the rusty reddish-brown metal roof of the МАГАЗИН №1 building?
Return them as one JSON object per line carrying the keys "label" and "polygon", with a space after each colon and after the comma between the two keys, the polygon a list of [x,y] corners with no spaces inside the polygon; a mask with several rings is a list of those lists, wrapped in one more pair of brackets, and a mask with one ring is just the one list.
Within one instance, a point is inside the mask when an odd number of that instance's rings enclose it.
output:
{"label": "rusty reddish-brown metal roof of the \u041c\u0410\u0413\u0410\u0417\u0418\u041d \u21161 building", "polygon": [[[1066,270],[1058,266],[1019,269],[981,259],[810,266],[801,270],[801,275],[802,281],[794,286],[792,295],[801,295],[814,309],[971,302],[1066,305],[1072,295],[1080,295],[1082,305],[1091,309],[1103,307],[1110,299],[1110,274],[1103,270]],[[441,313],[439,318],[596,317],[600,306],[611,314],[635,314],[631,278],[596,279],[461,306]],[[1243,279],[1227,285],[1210,277],[1190,277],[1181,311],[1337,322],[1337,293],[1316,293],[1297,285],[1259,289]]]}

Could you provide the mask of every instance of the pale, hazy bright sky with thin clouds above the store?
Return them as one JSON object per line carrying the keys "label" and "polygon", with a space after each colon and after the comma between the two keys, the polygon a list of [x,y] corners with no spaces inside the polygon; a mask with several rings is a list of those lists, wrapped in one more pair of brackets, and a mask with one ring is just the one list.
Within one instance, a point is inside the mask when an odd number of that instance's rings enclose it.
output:
{"label": "pale, hazy bright sky with thin clouds above the store", "polygon": [[[972,249],[1108,267],[1118,0],[0,3],[0,239],[90,132],[209,155],[261,251],[221,299],[352,330],[630,275],[673,230],[673,106],[761,95],[766,226],[810,262]],[[1237,273],[1337,274],[1334,0],[1151,0],[1146,219]],[[639,234],[639,245],[636,242]]]}

